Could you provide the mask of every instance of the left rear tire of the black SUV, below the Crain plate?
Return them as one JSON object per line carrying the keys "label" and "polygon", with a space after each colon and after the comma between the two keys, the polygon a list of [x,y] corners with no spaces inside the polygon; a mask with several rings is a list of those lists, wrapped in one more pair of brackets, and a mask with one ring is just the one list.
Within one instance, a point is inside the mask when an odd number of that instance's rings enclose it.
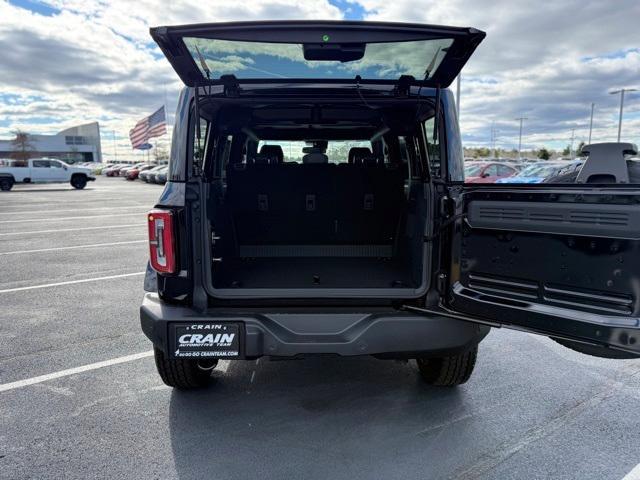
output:
{"label": "left rear tire of the black SUV, below the Crain plate", "polygon": [[157,348],[154,348],[154,354],[162,381],[170,387],[183,390],[205,387],[211,379],[211,370],[218,364],[215,359],[170,359]]}

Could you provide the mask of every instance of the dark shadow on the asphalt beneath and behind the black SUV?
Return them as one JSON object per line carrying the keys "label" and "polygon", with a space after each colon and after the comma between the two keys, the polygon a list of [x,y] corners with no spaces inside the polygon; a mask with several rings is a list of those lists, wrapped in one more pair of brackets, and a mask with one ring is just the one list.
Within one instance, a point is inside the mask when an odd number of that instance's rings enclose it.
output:
{"label": "dark shadow on the asphalt beneath and behind the black SUV", "polygon": [[206,390],[172,392],[176,472],[396,478],[407,469],[397,463],[403,455],[424,453],[416,438],[431,441],[460,417],[464,395],[423,384],[412,364],[368,357],[231,363]]}

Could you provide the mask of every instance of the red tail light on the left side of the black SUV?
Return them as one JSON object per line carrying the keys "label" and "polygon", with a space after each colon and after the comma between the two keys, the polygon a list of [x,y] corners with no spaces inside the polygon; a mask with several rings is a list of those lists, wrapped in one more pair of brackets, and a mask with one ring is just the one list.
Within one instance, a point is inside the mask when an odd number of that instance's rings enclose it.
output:
{"label": "red tail light on the left side of the black SUV", "polygon": [[156,272],[175,273],[176,246],[173,212],[151,210],[147,214],[147,221],[151,266]]}

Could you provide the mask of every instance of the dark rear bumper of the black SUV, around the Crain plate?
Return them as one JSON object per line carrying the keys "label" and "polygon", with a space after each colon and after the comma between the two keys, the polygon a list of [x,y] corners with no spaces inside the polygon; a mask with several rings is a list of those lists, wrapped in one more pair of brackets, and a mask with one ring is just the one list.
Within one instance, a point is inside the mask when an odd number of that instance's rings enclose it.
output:
{"label": "dark rear bumper of the black SUV, around the Crain plate", "polygon": [[140,307],[142,331],[168,352],[169,324],[234,322],[245,328],[244,356],[293,357],[305,354],[390,357],[454,355],[468,350],[489,327],[409,312],[384,313],[199,313],[168,305],[147,293]]}

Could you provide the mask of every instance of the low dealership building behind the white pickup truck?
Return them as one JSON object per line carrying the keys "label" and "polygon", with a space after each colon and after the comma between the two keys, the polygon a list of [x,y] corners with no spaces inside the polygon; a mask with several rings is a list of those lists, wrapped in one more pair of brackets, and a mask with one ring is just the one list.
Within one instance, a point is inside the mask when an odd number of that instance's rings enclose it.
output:
{"label": "low dealership building behind the white pickup truck", "polygon": [[[58,158],[69,163],[102,162],[100,125],[87,123],[55,135],[29,134],[29,149],[32,157]],[[13,139],[0,140],[0,158],[10,158],[15,150]]]}

